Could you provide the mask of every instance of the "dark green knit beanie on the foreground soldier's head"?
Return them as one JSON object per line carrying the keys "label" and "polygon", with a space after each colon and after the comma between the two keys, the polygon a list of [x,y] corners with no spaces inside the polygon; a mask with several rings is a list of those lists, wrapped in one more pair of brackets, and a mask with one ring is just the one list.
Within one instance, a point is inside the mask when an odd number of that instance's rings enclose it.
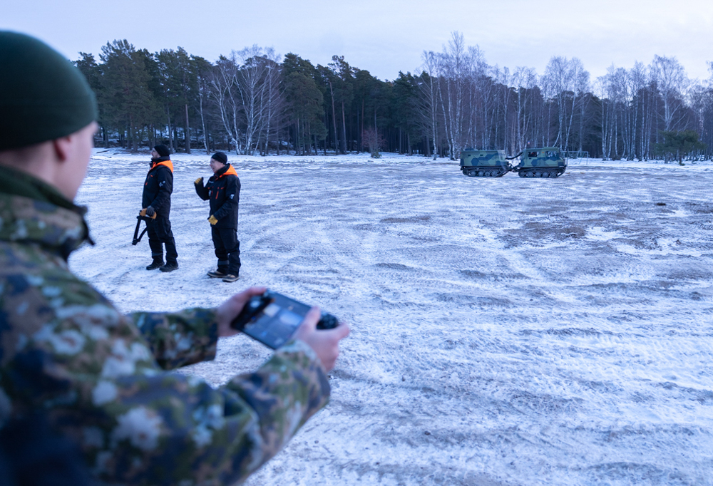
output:
{"label": "dark green knit beanie on the foreground soldier's head", "polygon": [[98,118],[82,73],[53,48],[0,31],[0,150],[61,138]]}

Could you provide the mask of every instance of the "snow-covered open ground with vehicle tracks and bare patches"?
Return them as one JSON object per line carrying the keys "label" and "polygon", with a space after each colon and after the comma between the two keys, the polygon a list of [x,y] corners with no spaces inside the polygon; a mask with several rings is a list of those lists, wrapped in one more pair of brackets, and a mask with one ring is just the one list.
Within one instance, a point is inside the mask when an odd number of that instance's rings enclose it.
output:
{"label": "snow-covered open ground with vehicle tracks and bare patches", "polygon": [[[349,322],[332,401],[247,485],[713,484],[713,165],[464,177],[424,157],[237,157],[240,281],[215,267],[205,154],[175,155],[180,269],[131,245],[148,155],[95,150],[72,269],[123,311],[255,284]],[[237,336],[214,385],[267,348]]]}

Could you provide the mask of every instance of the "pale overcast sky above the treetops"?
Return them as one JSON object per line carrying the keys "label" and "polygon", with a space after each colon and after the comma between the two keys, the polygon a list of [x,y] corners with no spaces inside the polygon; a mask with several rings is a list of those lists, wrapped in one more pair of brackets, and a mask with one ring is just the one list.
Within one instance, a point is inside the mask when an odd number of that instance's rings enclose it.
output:
{"label": "pale overcast sky above the treetops", "polygon": [[71,59],[115,38],[210,61],[257,43],[315,65],[343,55],[381,79],[416,71],[451,31],[491,65],[539,74],[552,56],[580,58],[596,78],[658,54],[703,79],[713,61],[713,0],[0,0],[0,29],[31,33]]}

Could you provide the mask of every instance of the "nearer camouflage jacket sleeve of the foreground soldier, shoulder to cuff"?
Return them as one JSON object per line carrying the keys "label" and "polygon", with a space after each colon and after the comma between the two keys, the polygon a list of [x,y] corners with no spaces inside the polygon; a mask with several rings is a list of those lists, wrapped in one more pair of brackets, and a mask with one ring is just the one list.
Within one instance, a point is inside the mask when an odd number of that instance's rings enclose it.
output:
{"label": "nearer camouflage jacket sleeve of the foreground soldier, shoulder to cuff", "polygon": [[77,295],[86,302],[93,292],[72,279],[6,281],[4,317],[19,334],[4,343],[14,357],[1,386],[14,413],[47,410],[101,480],[185,486],[245,480],[327,403],[324,369],[301,341],[215,390],[200,378],[161,371],[138,329],[99,295],[91,305],[73,301]]}

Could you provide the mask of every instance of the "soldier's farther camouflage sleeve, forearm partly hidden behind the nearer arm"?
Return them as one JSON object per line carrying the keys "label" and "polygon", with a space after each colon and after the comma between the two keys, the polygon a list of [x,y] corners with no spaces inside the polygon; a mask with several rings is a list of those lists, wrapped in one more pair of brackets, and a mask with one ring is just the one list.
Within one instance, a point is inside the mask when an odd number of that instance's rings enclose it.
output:
{"label": "soldier's farther camouflage sleeve, forearm partly hidden behind the nearer arm", "polygon": [[153,358],[164,370],[215,358],[218,334],[214,309],[135,312],[128,318],[148,341]]}

